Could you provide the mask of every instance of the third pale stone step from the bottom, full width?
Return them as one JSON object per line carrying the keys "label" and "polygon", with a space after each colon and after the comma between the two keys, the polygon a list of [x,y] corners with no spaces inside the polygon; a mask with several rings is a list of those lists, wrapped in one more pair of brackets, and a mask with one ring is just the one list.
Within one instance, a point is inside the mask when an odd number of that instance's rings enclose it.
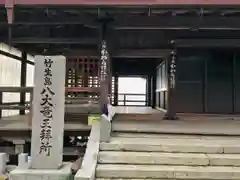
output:
{"label": "third pale stone step from the bottom, full width", "polygon": [[100,144],[100,150],[238,154],[240,153],[240,140],[112,137],[109,143]]}

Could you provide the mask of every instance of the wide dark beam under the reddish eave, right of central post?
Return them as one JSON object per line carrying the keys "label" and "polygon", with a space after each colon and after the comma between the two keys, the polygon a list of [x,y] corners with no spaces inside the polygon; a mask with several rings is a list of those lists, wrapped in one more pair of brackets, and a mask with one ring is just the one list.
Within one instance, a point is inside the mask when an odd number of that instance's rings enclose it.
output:
{"label": "wide dark beam under the reddish eave, right of central post", "polygon": [[239,17],[226,16],[120,16],[111,23],[113,29],[239,29]]}

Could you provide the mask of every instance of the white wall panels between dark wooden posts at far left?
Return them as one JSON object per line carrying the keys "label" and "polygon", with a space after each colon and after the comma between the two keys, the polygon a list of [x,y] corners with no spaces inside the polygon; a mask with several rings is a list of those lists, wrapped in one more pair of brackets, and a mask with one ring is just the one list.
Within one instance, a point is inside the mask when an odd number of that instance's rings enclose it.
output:
{"label": "white wall panels between dark wooden posts at far left", "polygon": [[[0,44],[0,50],[9,52],[21,57],[21,52],[15,48],[9,48],[6,44]],[[34,61],[34,58],[28,55],[28,60]],[[33,86],[34,66],[27,65],[27,86]],[[3,55],[0,55],[0,86],[20,86],[21,62]],[[26,100],[30,100],[29,94]],[[3,102],[19,102],[19,93],[3,93]],[[17,115],[18,110],[3,110],[3,116]]]}

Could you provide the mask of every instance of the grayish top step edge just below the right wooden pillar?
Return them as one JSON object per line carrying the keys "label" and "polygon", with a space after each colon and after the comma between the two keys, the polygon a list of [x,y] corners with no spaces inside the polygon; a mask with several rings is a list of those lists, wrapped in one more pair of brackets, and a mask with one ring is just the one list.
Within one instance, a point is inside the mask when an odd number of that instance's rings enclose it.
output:
{"label": "grayish top step edge just below the right wooden pillar", "polygon": [[168,134],[202,134],[202,135],[240,135],[240,121],[166,121],[133,120],[113,121],[112,130],[116,132],[168,133]]}

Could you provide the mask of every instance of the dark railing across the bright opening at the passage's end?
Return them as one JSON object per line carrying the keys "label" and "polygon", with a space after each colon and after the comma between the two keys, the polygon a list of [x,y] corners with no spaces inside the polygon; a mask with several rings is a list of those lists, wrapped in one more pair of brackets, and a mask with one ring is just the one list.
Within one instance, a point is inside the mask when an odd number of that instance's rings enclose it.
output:
{"label": "dark railing across the bright opening at the passage's end", "polygon": [[[118,98],[118,102],[123,102],[123,106],[146,106],[147,105],[147,100],[146,100],[146,94],[130,94],[130,93],[119,93],[118,96],[123,96],[123,100],[120,100]],[[144,97],[145,100],[129,100],[129,96],[135,96],[135,97]],[[127,102],[135,103],[135,104],[127,104]],[[139,103],[139,104],[137,104]],[[144,104],[142,104],[144,103]],[[118,105],[121,106],[121,104],[118,103]]]}

